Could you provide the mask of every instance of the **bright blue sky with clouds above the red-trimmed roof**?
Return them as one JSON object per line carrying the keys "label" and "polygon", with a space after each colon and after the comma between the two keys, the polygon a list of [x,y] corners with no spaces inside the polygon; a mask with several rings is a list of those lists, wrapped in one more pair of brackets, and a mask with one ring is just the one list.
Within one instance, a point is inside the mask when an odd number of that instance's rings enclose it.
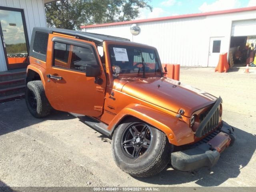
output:
{"label": "bright blue sky with clouds above the red-trimmed roof", "polygon": [[256,6],[256,0],[151,0],[149,4],[152,12],[140,9],[136,20],[250,7]]}

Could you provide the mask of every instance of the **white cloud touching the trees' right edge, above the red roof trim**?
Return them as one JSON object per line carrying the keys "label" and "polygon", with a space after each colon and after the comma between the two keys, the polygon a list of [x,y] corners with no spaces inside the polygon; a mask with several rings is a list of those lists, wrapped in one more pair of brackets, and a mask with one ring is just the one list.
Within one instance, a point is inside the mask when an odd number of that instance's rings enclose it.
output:
{"label": "white cloud touching the trees' right edge, above the red roof trim", "polygon": [[152,12],[150,12],[150,10],[148,9],[140,8],[140,16],[136,18],[136,20],[164,17],[168,15],[169,13],[167,11],[164,11],[162,8],[159,8],[159,7],[153,8]]}

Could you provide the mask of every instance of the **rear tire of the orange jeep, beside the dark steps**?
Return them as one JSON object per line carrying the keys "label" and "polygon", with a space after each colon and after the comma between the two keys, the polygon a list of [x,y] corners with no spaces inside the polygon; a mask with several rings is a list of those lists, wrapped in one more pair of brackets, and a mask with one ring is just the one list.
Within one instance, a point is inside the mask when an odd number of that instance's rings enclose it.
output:
{"label": "rear tire of the orange jeep, beside the dark steps", "polygon": [[42,81],[28,82],[25,100],[29,112],[36,118],[46,117],[52,110],[52,106],[46,98]]}

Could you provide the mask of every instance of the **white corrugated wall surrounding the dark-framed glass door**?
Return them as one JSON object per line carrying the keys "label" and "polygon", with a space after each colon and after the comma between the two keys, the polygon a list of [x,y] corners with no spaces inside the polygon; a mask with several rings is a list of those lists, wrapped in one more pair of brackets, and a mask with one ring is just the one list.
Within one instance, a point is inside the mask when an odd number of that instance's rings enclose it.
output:
{"label": "white corrugated wall surrounding the dark-framed glass door", "polygon": [[[29,41],[35,26],[46,27],[44,0],[0,0],[0,6],[24,9]],[[6,70],[4,50],[0,45],[0,71]]]}

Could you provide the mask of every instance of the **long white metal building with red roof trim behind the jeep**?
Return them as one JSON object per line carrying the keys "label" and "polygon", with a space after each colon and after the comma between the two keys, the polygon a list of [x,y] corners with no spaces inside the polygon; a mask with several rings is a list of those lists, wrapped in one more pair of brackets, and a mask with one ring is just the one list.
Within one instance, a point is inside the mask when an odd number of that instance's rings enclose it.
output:
{"label": "long white metal building with red roof trim behind the jeep", "polygon": [[[132,36],[137,24],[140,34]],[[162,63],[215,67],[219,54],[238,50],[236,38],[256,36],[256,7],[81,26],[83,31],[129,38],[154,46]],[[232,37],[232,38],[231,38]],[[242,38],[242,40],[244,40]],[[234,42],[232,42],[234,41]],[[231,48],[230,48],[231,46]]]}

